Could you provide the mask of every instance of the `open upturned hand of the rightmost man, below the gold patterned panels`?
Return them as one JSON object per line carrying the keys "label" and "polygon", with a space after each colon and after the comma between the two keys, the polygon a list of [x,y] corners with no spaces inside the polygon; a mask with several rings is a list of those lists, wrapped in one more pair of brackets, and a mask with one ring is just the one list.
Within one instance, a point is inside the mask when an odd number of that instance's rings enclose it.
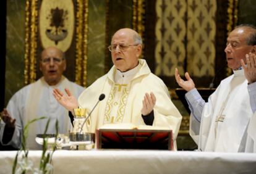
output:
{"label": "open upturned hand of the rightmost man, below the gold patterned panels", "polygon": [[192,78],[190,78],[188,72],[185,73],[185,77],[187,79],[186,81],[181,78],[181,76],[179,75],[179,71],[177,70],[177,68],[175,68],[175,79],[177,81],[177,84],[181,86],[181,88],[185,89],[186,91],[190,91],[191,89],[194,89],[195,83],[192,80]]}

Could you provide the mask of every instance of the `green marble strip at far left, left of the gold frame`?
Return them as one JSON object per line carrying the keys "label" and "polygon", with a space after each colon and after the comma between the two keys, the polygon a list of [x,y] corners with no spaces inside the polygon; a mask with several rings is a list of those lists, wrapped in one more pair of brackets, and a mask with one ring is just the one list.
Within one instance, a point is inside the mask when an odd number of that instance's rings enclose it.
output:
{"label": "green marble strip at far left, left of the gold frame", "polygon": [[5,104],[24,86],[25,0],[7,1]]}

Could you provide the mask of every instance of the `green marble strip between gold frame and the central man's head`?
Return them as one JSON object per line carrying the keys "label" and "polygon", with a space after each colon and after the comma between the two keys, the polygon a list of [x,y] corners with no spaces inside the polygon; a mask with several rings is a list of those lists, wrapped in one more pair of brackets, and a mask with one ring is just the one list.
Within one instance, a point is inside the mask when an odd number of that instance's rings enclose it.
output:
{"label": "green marble strip between gold frame and the central man's head", "polygon": [[90,0],[88,5],[87,86],[105,73],[106,1]]}

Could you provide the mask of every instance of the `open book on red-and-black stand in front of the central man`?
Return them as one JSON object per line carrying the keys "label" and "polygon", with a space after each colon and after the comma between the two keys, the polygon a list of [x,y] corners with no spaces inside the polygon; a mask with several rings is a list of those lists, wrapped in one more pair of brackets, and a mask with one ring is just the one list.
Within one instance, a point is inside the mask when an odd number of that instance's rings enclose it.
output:
{"label": "open book on red-and-black stand in front of the central man", "polygon": [[173,150],[173,131],[166,127],[107,124],[96,130],[98,149]]}

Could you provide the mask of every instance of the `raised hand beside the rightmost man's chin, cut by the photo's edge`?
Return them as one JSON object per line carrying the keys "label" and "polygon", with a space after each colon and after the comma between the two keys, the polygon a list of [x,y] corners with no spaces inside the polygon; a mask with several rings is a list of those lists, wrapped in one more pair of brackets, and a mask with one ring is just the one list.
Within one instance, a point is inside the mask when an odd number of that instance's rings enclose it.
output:
{"label": "raised hand beside the rightmost man's chin, cut by the photo's edge", "polygon": [[249,84],[254,83],[256,81],[256,55],[250,52],[249,54],[246,54],[245,57],[247,67],[245,66],[244,60],[241,59],[244,75]]}

